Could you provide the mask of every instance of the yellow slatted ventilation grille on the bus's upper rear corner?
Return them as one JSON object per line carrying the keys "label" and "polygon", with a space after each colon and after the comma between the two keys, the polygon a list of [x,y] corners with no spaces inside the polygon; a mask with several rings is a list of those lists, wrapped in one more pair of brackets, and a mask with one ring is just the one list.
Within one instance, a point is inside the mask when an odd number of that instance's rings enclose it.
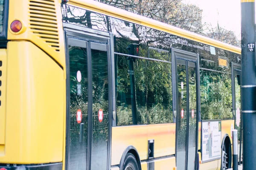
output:
{"label": "yellow slatted ventilation grille on the bus's upper rear corner", "polygon": [[30,0],[29,25],[33,34],[60,51],[55,0]]}

